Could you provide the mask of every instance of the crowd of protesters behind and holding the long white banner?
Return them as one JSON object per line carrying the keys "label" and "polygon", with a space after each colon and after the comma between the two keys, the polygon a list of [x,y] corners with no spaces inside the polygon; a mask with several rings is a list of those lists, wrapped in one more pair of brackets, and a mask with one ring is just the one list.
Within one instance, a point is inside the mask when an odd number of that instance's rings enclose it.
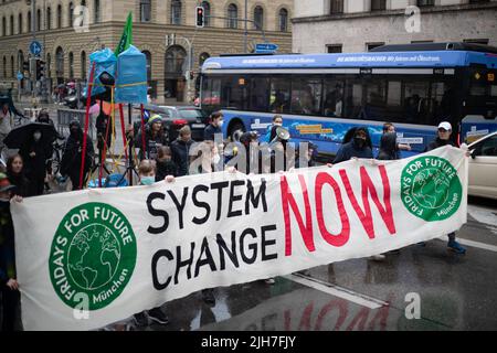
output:
{"label": "crowd of protesters behind and holding the long white banner", "polygon": [[[8,125],[3,119],[8,115],[0,111],[0,143],[9,133],[3,127]],[[51,126],[53,122],[46,111],[42,111],[38,122]],[[101,127],[101,131],[108,130],[107,124]],[[195,143],[191,138],[189,126],[179,130],[176,140],[169,141],[168,132],[165,129],[162,117],[151,116],[146,121],[144,129],[136,127],[127,128],[127,138],[136,149],[139,149],[138,175],[141,185],[150,185],[158,181],[166,180],[172,182],[175,178],[189,174],[210,173],[223,170],[229,165],[230,171],[244,171],[248,173],[279,172],[294,168],[306,168],[316,165],[317,147],[310,141],[306,143],[304,150],[297,149],[295,158],[287,158],[288,133],[283,127],[283,117],[276,115],[273,125],[268,128],[268,143],[264,149],[260,147],[260,136],[255,131],[247,131],[241,135],[240,140],[234,142],[231,149],[224,149],[222,140],[222,113],[213,113],[210,124],[204,130],[204,141]],[[14,261],[14,229],[10,215],[10,201],[14,199],[21,202],[22,197],[36,196],[44,193],[47,175],[51,174],[51,158],[53,153],[52,143],[54,139],[62,138],[56,133],[50,139],[44,139],[44,129],[33,129],[27,136],[19,152],[9,157],[4,170],[0,170],[0,286],[2,292],[2,330],[9,331],[14,325],[15,308],[19,304],[19,286],[15,279]],[[427,150],[435,149],[444,145],[452,145],[450,137],[452,126],[450,122],[441,122],[436,139],[431,142]],[[221,136],[221,137],[220,137]],[[81,189],[81,180],[86,180],[95,162],[94,143],[89,136],[86,136],[86,147],[84,147],[84,132],[78,121],[70,124],[70,135],[66,138],[64,151],[61,160],[60,172],[71,179],[73,190]],[[101,150],[107,142],[103,136],[98,139]],[[254,149],[252,149],[252,147]],[[258,147],[258,148],[257,148]],[[387,122],[383,126],[383,135],[380,141],[378,156],[373,156],[371,138],[367,127],[356,127],[350,129],[342,141],[332,163],[341,163],[353,158],[396,160],[401,158],[402,150],[410,150],[409,145],[398,142],[395,127]],[[254,152],[255,151],[255,152]],[[265,153],[267,152],[267,153]],[[236,157],[245,156],[245,159],[237,160]],[[85,156],[83,175],[82,159]],[[283,156],[283,163],[278,161],[278,156]],[[253,168],[254,160],[258,163]],[[233,162],[234,161],[234,162]],[[232,163],[230,163],[232,162]],[[267,163],[265,163],[267,162]],[[83,183],[84,184],[84,183]],[[458,254],[464,254],[466,249],[455,240],[455,234],[448,235],[447,246]],[[423,245],[423,244],[420,244]],[[377,255],[373,259],[382,259],[385,254]],[[265,280],[266,284],[274,284],[274,279]],[[215,304],[214,290],[204,289],[201,292],[202,300],[210,306]],[[168,317],[160,307],[152,310],[135,314],[138,325],[146,325],[149,320],[156,323],[168,323]]]}

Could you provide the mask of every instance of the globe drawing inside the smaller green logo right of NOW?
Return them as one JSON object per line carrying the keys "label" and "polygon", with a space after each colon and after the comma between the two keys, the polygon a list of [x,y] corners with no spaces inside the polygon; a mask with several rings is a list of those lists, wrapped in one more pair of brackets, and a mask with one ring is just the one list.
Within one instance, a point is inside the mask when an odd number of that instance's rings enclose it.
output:
{"label": "globe drawing inside the smaller green logo right of NOW", "polygon": [[414,178],[413,197],[426,208],[438,208],[448,199],[451,183],[445,174],[436,168],[422,170]]}

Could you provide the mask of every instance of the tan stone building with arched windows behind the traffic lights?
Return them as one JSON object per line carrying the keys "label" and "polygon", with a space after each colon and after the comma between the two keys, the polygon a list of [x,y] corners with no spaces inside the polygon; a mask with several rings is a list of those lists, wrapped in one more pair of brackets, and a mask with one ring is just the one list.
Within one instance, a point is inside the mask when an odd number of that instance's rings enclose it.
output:
{"label": "tan stone building with arched windows behind the traffic lights", "polygon": [[[195,25],[198,6],[204,7],[204,28]],[[281,53],[292,51],[292,0],[35,0],[31,12],[25,0],[1,0],[4,88],[17,88],[33,39],[44,49],[41,58],[52,87],[86,79],[89,54],[116,47],[129,12],[134,45],[147,55],[149,86],[158,103],[190,100],[199,66],[209,56],[251,52],[263,42],[276,43]],[[27,84],[21,82],[22,87]]]}

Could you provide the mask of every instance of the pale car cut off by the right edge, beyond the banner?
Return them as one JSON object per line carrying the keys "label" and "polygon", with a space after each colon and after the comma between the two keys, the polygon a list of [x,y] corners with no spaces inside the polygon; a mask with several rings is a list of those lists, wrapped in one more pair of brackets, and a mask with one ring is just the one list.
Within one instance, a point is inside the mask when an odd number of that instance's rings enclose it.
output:
{"label": "pale car cut off by the right edge, beyond the banner", "polygon": [[497,200],[497,131],[468,146],[468,194]]}

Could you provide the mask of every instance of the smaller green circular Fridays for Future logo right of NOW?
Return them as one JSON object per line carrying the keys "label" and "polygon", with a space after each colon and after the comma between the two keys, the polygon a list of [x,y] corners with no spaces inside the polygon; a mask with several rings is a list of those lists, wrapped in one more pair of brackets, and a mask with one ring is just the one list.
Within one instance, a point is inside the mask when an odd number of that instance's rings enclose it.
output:
{"label": "smaller green circular Fridays for Future logo right of NOW", "polygon": [[402,170],[402,202],[409,212],[424,221],[448,218],[459,207],[462,196],[457,170],[446,159],[420,157]]}

